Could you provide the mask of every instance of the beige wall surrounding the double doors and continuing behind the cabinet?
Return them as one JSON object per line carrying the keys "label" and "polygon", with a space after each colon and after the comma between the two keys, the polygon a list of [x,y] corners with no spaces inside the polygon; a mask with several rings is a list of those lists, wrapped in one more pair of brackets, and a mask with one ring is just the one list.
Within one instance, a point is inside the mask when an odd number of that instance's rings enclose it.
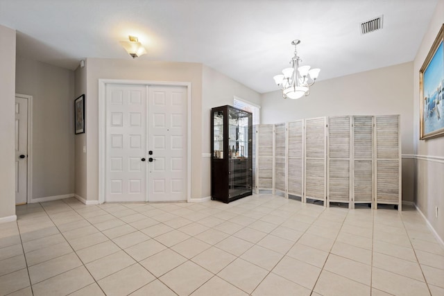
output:
{"label": "beige wall surrounding the double doors and continuing behind the cabinet", "polygon": [[[191,82],[191,198],[210,196],[210,109],[232,105],[234,96],[259,104],[259,94],[196,63],[87,59],[76,70],[76,96],[86,94],[86,134],[76,136],[76,194],[99,198],[99,79]],[[83,145],[87,153],[83,153]]]}

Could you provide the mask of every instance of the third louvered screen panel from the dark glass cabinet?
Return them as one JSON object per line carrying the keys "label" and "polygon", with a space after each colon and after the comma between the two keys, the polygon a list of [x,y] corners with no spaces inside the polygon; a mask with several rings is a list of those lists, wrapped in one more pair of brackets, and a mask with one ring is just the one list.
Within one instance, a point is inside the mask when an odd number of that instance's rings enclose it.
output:
{"label": "third louvered screen panel from the dark glass cabinet", "polygon": [[288,194],[302,199],[304,190],[304,121],[288,123]]}

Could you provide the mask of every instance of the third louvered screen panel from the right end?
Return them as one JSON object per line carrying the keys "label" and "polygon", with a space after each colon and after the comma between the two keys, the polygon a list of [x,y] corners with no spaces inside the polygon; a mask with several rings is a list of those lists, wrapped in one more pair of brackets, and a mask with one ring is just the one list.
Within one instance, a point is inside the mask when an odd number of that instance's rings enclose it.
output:
{"label": "third louvered screen panel from the right end", "polygon": [[350,194],[350,116],[328,118],[328,182],[329,202],[346,202],[351,207]]}

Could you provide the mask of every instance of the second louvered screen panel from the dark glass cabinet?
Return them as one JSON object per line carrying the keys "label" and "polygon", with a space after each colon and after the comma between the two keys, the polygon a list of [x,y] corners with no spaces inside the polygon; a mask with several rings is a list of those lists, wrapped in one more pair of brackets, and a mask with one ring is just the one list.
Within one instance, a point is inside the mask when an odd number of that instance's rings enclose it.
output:
{"label": "second louvered screen panel from the dark glass cabinet", "polygon": [[275,190],[287,198],[287,123],[275,124]]}

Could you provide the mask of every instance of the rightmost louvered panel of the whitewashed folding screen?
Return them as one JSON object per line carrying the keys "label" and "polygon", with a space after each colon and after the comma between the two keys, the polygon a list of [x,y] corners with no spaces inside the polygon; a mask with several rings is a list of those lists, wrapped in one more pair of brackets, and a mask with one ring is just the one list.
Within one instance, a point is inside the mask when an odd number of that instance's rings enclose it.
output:
{"label": "rightmost louvered panel of the whitewashed folding screen", "polygon": [[400,116],[375,116],[375,208],[377,204],[398,204],[401,210]]}

